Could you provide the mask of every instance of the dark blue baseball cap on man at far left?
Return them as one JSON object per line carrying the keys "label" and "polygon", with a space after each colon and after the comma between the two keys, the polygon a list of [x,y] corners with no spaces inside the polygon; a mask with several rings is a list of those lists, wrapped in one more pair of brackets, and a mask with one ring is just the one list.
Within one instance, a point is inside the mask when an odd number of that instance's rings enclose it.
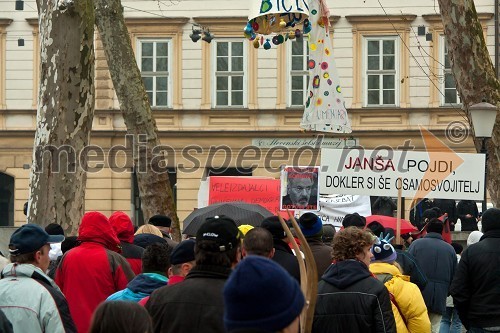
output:
{"label": "dark blue baseball cap on man at far left", "polygon": [[9,252],[12,255],[35,252],[45,244],[61,243],[63,235],[49,235],[38,224],[25,224],[10,237]]}

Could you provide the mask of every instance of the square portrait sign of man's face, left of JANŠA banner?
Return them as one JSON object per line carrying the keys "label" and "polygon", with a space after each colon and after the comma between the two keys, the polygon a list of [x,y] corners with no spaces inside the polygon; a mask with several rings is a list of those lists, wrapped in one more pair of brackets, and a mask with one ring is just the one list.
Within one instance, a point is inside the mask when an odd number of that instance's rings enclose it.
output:
{"label": "square portrait sign of man's face, left of JAN\u0160A banner", "polygon": [[281,171],[281,210],[319,209],[319,167],[286,166]]}

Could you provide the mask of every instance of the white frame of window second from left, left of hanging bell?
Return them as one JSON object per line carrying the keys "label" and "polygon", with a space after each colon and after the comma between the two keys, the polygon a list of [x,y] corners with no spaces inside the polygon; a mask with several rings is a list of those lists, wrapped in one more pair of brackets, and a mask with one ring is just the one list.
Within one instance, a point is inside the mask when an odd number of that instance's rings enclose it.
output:
{"label": "white frame of window second from left, left of hanging bell", "polygon": [[[217,43],[233,43],[238,42],[243,45],[243,71],[231,72],[228,71],[227,75],[217,74]],[[248,52],[247,43],[245,39],[242,38],[217,38],[217,40],[212,41],[212,107],[213,108],[247,108],[248,105]],[[231,47],[228,47],[228,66],[231,66]],[[230,68],[230,67],[229,67]],[[241,73],[243,74],[243,105],[232,105],[231,101],[231,80],[228,80],[228,105],[217,105],[217,76],[228,76],[231,77],[231,73]]]}

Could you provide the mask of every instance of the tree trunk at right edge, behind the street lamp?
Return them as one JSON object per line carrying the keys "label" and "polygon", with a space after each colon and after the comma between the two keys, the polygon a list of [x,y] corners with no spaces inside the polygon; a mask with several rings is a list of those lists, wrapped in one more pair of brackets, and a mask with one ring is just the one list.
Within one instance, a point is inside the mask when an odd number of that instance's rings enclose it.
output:
{"label": "tree trunk at right edge, behind the street lamp", "polygon": [[[488,149],[488,191],[495,207],[500,204],[500,82],[484,40],[472,0],[438,0],[448,54],[457,89],[464,105],[486,102],[496,105],[497,118]],[[469,117],[470,122],[470,115]],[[476,147],[481,144],[476,140]]]}

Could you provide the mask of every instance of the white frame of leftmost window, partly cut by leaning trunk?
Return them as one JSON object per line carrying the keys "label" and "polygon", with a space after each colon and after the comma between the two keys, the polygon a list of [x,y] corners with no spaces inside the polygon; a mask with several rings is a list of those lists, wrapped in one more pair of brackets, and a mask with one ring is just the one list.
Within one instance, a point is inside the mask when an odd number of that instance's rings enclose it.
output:
{"label": "white frame of leftmost window, partly cut by leaning trunk", "polygon": [[[167,43],[167,72],[163,73],[161,72],[161,75],[155,75],[155,73],[158,72],[151,72],[152,77],[153,77],[153,100],[150,101],[151,107],[153,109],[165,109],[165,108],[171,108],[172,107],[172,98],[173,98],[173,92],[172,92],[172,58],[173,58],[173,51],[172,51],[172,39],[171,38],[138,38],[137,39],[137,64],[139,66],[139,70],[141,71],[141,77],[143,74],[142,71],[142,43]],[[153,46],[153,68],[156,67],[156,47]],[[148,73],[149,74],[149,73]],[[156,78],[157,76],[164,76],[166,74],[167,76],[167,105],[156,105]],[[149,75],[148,75],[149,76]]]}

